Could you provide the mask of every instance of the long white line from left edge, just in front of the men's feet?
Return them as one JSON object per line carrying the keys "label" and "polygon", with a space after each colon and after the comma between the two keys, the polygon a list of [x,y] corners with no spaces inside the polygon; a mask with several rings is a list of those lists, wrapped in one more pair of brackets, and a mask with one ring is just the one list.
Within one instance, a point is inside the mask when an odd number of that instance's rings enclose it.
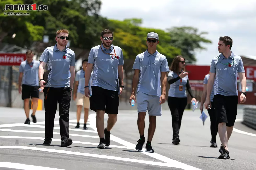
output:
{"label": "long white line from left edge, just in front of the men's feet", "polygon": [[0,148],[5,149],[28,149],[28,150],[39,150],[45,152],[54,152],[54,153],[63,153],[63,154],[72,154],[72,155],[81,155],[81,156],[89,156],[94,158],[103,158],[103,159],[112,159],[118,161],[127,161],[127,162],[135,162],[135,163],[143,163],[146,165],[157,165],[157,166],[165,166],[165,167],[176,167],[175,165],[169,163],[162,163],[162,162],[152,162],[152,161],[144,161],[138,159],[131,159],[131,158],[121,158],[117,156],[109,156],[109,155],[98,155],[98,154],[89,154],[89,153],[81,153],[81,152],[72,152],[66,150],[57,150],[57,149],[47,149],[47,148],[36,148],[36,147],[28,147],[28,146],[0,146]]}

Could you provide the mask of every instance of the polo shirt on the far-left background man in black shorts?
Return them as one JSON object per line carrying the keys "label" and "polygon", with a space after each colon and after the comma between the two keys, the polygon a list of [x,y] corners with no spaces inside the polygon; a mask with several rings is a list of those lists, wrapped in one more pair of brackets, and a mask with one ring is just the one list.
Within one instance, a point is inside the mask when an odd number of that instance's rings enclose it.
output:
{"label": "polo shirt on the far-left background man in black shorts", "polygon": [[22,84],[29,86],[39,86],[38,80],[38,68],[40,62],[37,60],[32,60],[30,64],[28,64],[27,60],[22,61],[20,63],[19,71],[23,73]]}

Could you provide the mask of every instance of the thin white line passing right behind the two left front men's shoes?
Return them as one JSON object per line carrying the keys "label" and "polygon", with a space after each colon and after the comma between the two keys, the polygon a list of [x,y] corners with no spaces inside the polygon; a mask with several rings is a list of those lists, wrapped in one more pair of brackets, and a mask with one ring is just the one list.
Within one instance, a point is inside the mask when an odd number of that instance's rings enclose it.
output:
{"label": "thin white line passing right behind the two left front men's shoes", "polygon": [[[29,137],[29,136],[0,136],[0,138],[13,138],[13,139],[39,139],[44,141],[44,137]],[[53,141],[61,142],[60,139],[52,139]],[[42,142],[43,143],[43,142]],[[80,141],[73,141],[73,143],[79,144],[88,144],[88,145],[95,145],[98,146],[99,143],[91,143],[91,142],[80,142]],[[131,149],[126,146],[118,146],[118,145],[110,145],[109,147],[113,148],[123,148],[123,149]]]}

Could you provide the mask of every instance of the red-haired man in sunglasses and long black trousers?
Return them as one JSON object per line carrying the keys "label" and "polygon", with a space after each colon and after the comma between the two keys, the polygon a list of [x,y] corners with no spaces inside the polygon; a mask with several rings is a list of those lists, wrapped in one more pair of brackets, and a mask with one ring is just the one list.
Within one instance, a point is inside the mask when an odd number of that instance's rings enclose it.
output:
{"label": "red-haired man in sunglasses and long black trousers", "polygon": [[[59,103],[61,146],[72,144],[69,138],[69,108],[75,78],[75,53],[67,48],[68,30],[56,32],[55,46],[47,47],[39,61],[39,82],[44,87],[45,108],[45,140],[51,144],[53,138],[54,117]],[[43,80],[44,68],[47,64],[48,76]],[[70,73],[69,73],[70,72]]]}

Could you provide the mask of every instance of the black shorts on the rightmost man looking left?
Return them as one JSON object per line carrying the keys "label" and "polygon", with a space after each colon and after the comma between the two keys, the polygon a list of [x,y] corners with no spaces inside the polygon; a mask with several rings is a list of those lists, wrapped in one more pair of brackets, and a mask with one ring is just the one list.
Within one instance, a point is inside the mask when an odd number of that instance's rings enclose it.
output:
{"label": "black shorts on the rightmost man looking left", "polygon": [[237,115],[238,96],[214,95],[213,97],[217,123],[234,126]]}

